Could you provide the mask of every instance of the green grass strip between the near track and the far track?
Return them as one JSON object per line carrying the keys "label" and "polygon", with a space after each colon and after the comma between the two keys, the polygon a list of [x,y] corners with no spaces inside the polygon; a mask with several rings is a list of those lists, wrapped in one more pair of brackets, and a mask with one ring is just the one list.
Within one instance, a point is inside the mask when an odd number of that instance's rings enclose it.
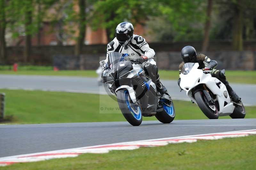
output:
{"label": "green grass strip between the near track and the far track", "polygon": [[[5,115],[13,116],[12,123],[65,123],[126,121],[118,104],[107,95],[44,92],[26,90],[6,90]],[[207,119],[196,104],[174,101],[175,120]],[[113,111],[100,111],[100,108],[114,108]],[[220,119],[229,119],[229,116]],[[246,118],[256,118],[256,107],[246,107]],[[143,120],[156,120],[143,117]]]}

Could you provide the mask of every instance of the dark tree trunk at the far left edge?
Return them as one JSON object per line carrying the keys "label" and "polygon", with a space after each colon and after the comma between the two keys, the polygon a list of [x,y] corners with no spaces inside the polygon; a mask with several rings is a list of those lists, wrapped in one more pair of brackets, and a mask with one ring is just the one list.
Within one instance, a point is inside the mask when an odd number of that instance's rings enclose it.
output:
{"label": "dark tree trunk at the far left edge", "polygon": [[0,0],[0,63],[6,61],[6,42],[5,42],[5,29],[6,29],[6,19],[5,19],[5,0]]}

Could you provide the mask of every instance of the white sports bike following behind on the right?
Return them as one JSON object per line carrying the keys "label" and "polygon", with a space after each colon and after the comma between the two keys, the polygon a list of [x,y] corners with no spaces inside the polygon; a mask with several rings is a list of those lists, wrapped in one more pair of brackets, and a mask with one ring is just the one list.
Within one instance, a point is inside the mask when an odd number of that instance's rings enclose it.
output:
{"label": "white sports bike following behind on the right", "polygon": [[[198,63],[185,63],[180,73],[180,88],[185,90],[209,119],[229,115],[233,119],[245,117],[242,101],[231,101],[226,86],[210,71],[198,69]],[[225,72],[225,70],[221,70]]]}

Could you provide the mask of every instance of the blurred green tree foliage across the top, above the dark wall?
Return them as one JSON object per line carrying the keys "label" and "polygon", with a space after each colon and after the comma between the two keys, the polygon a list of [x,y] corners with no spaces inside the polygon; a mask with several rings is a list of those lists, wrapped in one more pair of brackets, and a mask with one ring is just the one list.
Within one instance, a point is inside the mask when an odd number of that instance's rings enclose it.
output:
{"label": "blurred green tree foliage across the top, above the dark wall", "polygon": [[[84,0],[84,16],[79,16],[79,12],[75,10],[79,2],[77,0],[0,2],[0,20],[5,14],[7,29],[11,30],[14,38],[35,35],[43,21],[47,20],[54,26],[55,29],[51,31],[59,35],[60,42],[64,39],[76,39],[76,26],[87,24],[93,30],[105,28],[108,39],[113,38],[117,24],[123,21],[129,21],[134,26],[138,23],[147,25],[150,30],[148,34],[155,41],[201,40],[207,11],[207,1],[204,0]],[[213,6],[211,40],[233,38],[231,30],[237,25],[234,23],[237,10],[243,11],[243,32],[240,31],[239,36],[243,34],[243,39],[246,40],[256,38],[254,0],[216,0],[213,1]]]}

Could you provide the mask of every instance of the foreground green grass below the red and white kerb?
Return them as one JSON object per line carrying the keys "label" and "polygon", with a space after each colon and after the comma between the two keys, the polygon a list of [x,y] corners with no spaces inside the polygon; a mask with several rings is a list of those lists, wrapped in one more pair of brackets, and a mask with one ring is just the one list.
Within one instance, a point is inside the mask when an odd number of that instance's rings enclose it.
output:
{"label": "foreground green grass below the red and white kerb", "polygon": [[256,136],[169,144],[76,158],[19,163],[0,169],[255,169]]}

